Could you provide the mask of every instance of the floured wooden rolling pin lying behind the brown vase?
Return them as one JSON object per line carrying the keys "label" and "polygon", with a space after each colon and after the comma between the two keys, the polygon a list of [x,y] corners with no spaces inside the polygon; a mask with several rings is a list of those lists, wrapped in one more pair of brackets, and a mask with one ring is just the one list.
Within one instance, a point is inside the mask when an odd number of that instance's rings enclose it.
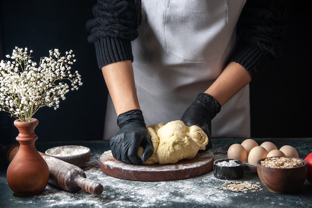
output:
{"label": "floured wooden rolling pin lying behind the brown vase", "polygon": [[[5,148],[6,160],[8,164],[13,160],[18,148],[18,145]],[[2,148],[2,154],[3,149],[4,148]],[[49,184],[72,193],[83,190],[90,194],[102,194],[103,186],[91,179],[87,179],[85,172],[81,168],[57,158],[45,155],[44,153],[39,153],[47,163],[50,170]]]}

